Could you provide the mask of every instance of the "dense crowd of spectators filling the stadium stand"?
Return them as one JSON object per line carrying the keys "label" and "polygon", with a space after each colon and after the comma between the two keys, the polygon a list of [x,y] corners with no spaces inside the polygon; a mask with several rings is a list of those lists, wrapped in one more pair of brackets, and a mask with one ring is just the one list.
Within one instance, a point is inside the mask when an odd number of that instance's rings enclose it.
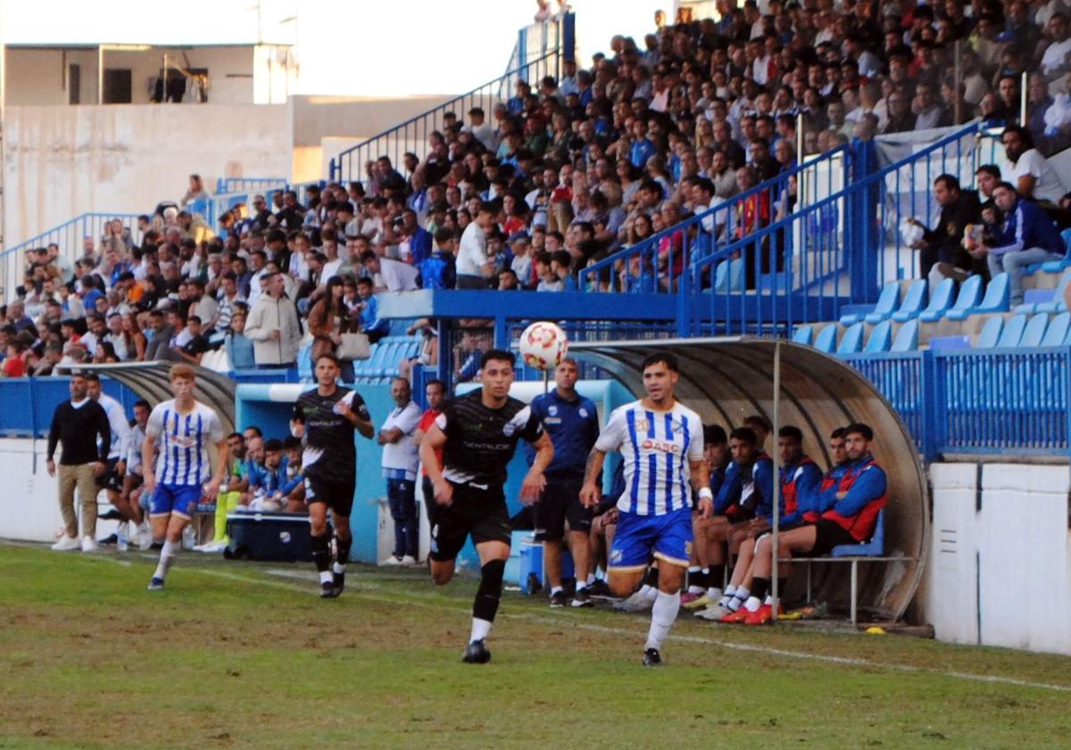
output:
{"label": "dense crowd of spectators filling the stadium stand", "polygon": [[[1071,142],[1062,0],[721,0],[718,10],[720,20],[675,26],[660,13],[642,44],[615,36],[587,68],[567,60],[560,78],[519,80],[491,111],[448,114],[423,159],[381,156],[365,181],[312,186],[303,204],[289,191],[256,196],[212,227],[190,210],[207,197],[192,176],[181,205],[162,205],[136,231],[108,224],[73,261],[71,249],[31,251],[3,311],[2,373],[196,363],[221,344],[235,368],[288,366],[303,336],[322,351],[349,332],[388,335],[379,291],[561,291],[578,279],[653,290],[695,259],[695,235],[745,237],[790,208],[791,181],[776,199],[737,196],[791,169],[800,122],[808,153],[976,116],[1013,123],[1024,72],[1029,117],[1016,132],[1039,158]],[[723,204],[724,224],[708,218],[647,255],[577,275]],[[434,326],[422,330],[434,339]],[[458,362],[468,345],[479,342],[463,344]],[[425,342],[422,356],[434,348]]]}

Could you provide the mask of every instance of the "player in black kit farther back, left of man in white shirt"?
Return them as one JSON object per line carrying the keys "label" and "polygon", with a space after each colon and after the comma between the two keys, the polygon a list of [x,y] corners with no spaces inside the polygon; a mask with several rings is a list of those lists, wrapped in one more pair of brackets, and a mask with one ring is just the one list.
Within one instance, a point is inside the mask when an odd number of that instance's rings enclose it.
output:
{"label": "player in black kit farther back, left of man in white shirt", "polygon": [[[338,386],[342,372],[334,355],[316,358],[314,390],[305,391],[293,405],[290,432],[302,438],[301,472],[305,478],[313,561],[320,574],[320,597],[333,599],[346,585],[346,560],[353,537],[349,512],[357,483],[357,448],[353,431],[372,439],[375,430],[368,407],[357,391]],[[328,508],[335,534],[335,561],[331,568]]]}

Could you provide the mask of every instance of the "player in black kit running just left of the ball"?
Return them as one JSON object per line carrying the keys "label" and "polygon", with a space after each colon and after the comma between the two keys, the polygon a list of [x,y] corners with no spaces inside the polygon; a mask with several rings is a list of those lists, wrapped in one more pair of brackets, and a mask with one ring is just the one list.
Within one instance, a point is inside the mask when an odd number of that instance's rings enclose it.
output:
{"label": "player in black kit running just left of the ball", "polygon": [[[502,597],[502,573],[510,556],[510,515],[506,509],[506,466],[517,440],[536,448],[536,459],[521,488],[521,501],[531,505],[546,485],[543,470],[554,446],[539,418],[516,399],[513,355],[492,349],[481,359],[483,388],[447,402],[420,444],[420,459],[435,488],[427,505],[432,524],[432,578],[442,585],[454,574],[454,559],[471,535],[480,555],[480,588],[472,603],[472,634],[462,661],[491,661],[484,639]],[[442,449],[442,468],[436,451]]]}

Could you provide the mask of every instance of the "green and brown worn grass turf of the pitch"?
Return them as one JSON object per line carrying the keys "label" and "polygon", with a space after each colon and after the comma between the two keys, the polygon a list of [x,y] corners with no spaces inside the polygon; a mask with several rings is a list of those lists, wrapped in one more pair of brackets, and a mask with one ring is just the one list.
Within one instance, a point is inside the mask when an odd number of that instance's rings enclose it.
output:
{"label": "green and brown worn grass turf of the pitch", "polygon": [[508,592],[476,666],[471,580],[353,566],[320,601],[307,566],[184,553],[152,594],[153,566],[0,546],[0,747],[1071,742],[1066,657],[682,615],[645,670],[646,616]]}

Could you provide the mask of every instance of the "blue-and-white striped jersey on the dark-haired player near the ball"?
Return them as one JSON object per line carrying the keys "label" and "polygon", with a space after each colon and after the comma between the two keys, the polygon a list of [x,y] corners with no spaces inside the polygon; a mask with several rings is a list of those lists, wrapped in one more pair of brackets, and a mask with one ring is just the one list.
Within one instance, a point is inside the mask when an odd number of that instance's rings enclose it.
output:
{"label": "blue-and-white striped jersey on the dark-haired player near the ball", "polygon": [[620,451],[624,492],[618,510],[664,515],[691,506],[692,461],[703,460],[703,422],[687,406],[654,411],[635,401],[614,409],[595,448]]}

